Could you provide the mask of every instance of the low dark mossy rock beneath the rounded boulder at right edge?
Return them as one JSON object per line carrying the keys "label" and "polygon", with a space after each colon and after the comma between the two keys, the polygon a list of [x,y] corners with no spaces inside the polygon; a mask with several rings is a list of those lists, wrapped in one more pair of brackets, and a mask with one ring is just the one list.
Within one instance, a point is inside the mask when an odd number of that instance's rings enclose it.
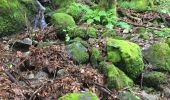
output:
{"label": "low dark mossy rock beneath the rounded boulder at right edge", "polygon": [[159,88],[167,80],[167,75],[161,72],[149,72],[144,74],[144,85],[154,88]]}

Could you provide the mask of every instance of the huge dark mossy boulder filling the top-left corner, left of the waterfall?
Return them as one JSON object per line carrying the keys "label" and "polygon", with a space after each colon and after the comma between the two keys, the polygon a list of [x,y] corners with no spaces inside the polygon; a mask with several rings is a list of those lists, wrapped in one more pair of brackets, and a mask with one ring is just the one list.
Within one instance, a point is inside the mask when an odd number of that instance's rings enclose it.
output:
{"label": "huge dark mossy boulder filling the top-left corner, left of the waterfall", "polygon": [[0,36],[23,30],[26,15],[27,9],[18,0],[0,0]]}

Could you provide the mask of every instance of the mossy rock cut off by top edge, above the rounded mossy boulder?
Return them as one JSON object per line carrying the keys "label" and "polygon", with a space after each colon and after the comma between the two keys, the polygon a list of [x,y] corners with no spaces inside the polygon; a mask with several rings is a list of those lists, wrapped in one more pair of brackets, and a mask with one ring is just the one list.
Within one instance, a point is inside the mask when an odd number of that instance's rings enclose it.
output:
{"label": "mossy rock cut off by top edge, above the rounded mossy boulder", "polygon": [[67,7],[70,4],[74,3],[76,0],[52,0],[52,3],[57,7],[57,8],[62,8],[62,7]]}

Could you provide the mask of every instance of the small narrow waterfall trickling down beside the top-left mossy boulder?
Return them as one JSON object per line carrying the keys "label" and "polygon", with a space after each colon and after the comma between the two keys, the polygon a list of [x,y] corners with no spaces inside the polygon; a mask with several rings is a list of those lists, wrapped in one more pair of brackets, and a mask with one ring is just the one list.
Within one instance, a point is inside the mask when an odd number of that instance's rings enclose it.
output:
{"label": "small narrow waterfall trickling down beside the top-left mossy boulder", "polygon": [[44,30],[44,28],[47,27],[47,23],[45,21],[44,17],[44,12],[45,12],[45,7],[38,1],[36,0],[37,7],[38,7],[38,13],[35,17],[34,21],[34,28],[33,31],[38,31],[39,29]]}

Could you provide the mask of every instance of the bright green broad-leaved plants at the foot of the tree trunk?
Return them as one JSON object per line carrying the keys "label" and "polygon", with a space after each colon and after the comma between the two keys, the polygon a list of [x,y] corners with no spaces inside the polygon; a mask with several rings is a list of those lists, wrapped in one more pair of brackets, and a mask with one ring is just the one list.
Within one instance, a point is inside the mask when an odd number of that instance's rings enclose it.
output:
{"label": "bright green broad-leaved plants at the foot of the tree trunk", "polygon": [[89,9],[82,20],[87,21],[88,24],[102,24],[105,25],[106,28],[112,29],[117,22],[117,17],[113,14],[112,9],[108,11]]}

